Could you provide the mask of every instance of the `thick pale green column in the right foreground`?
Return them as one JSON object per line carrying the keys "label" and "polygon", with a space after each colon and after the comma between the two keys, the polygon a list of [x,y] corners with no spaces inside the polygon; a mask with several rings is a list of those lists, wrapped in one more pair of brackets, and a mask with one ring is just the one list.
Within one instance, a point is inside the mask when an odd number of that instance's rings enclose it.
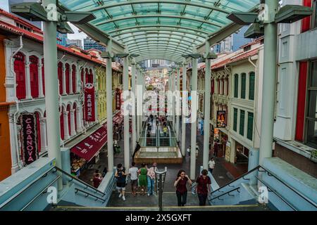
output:
{"label": "thick pale green column in the right foreground", "polygon": [[278,0],[266,0],[269,23],[264,24],[263,92],[261,109],[260,165],[272,157],[275,90],[277,73],[278,25],[274,23]]}

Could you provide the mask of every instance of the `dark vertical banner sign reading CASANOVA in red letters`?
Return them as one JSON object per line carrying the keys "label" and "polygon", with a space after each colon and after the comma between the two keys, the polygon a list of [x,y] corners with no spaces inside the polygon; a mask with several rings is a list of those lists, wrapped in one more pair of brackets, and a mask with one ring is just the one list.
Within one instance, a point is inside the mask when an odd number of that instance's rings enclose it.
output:
{"label": "dark vertical banner sign reading CASANOVA in red letters", "polygon": [[37,151],[37,123],[35,115],[25,113],[22,115],[22,143],[23,161],[26,165],[31,164],[39,158]]}

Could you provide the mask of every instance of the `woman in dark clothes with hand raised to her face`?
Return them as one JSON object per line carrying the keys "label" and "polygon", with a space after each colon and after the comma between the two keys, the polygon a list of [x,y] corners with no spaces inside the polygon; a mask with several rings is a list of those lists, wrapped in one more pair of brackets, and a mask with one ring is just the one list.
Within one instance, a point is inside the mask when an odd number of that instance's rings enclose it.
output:
{"label": "woman in dark clothes with hand raised to her face", "polygon": [[180,169],[178,178],[175,179],[174,186],[176,187],[176,196],[178,197],[178,206],[184,206],[187,200],[187,182],[192,186],[192,181],[189,179],[185,170]]}

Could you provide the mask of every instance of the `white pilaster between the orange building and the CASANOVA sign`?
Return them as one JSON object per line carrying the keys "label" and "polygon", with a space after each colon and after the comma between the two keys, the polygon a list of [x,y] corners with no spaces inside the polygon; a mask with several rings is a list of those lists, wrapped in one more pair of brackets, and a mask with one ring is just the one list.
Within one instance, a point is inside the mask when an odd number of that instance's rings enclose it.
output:
{"label": "white pilaster between the orange building and the CASANOVA sign", "polygon": [[[9,130],[10,130],[10,143],[11,143],[11,173],[14,174],[19,170],[18,166],[18,143],[16,142],[15,136],[18,135],[18,132],[15,131],[15,124],[13,120],[13,113],[8,113],[9,118]],[[20,151],[19,151],[20,152]]]}

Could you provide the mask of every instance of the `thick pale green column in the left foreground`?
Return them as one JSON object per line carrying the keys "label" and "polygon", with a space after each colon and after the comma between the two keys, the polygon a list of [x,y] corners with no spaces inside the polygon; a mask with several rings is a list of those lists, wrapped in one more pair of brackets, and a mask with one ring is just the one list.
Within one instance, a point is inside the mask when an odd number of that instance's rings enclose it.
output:
{"label": "thick pale green column in the left foreground", "polygon": [[[56,4],[55,0],[44,0],[43,5]],[[61,129],[59,121],[56,22],[43,22],[44,82],[47,128],[47,151],[49,158],[55,158],[56,167],[61,167]],[[58,179],[58,191],[63,188]]]}

